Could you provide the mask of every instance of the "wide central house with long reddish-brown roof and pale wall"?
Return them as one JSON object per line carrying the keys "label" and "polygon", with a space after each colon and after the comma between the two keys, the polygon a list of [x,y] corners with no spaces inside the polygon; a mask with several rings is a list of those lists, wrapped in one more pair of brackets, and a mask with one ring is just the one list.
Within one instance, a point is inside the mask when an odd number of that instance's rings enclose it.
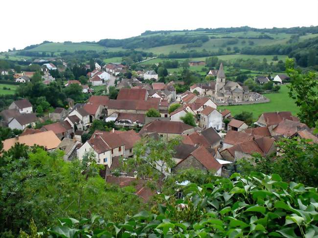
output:
{"label": "wide central house with long reddish-brown roof and pale wall", "polygon": [[160,137],[169,140],[180,135],[188,135],[194,132],[194,127],[184,124],[183,122],[172,121],[153,121],[139,131],[141,135],[151,134],[157,132]]}

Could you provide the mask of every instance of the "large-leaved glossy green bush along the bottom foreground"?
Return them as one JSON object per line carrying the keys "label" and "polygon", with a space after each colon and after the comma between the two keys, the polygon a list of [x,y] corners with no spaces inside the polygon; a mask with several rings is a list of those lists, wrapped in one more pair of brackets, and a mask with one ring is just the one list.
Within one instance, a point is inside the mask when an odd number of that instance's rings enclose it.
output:
{"label": "large-leaved glossy green bush along the bottom foreground", "polygon": [[158,210],[122,223],[100,216],[63,218],[47,233],[53,238],[318,236],[317,189],[281,180],[277,174],[234,173],[203,186],[191,183],[180,190],[182,199],[165,196]]}

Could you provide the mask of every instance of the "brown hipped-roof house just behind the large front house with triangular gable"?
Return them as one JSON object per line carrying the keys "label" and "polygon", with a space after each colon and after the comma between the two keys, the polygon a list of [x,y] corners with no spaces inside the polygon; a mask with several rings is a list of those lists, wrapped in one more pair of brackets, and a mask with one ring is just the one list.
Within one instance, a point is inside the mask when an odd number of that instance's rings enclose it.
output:
{"label": "brown hipped-roof house just behind the large front house with triangular gable", "polygon": [[182,142],[184,144],[192,146],[204,146],[210,149],[219,147],[221,141],[221,136],[212,127],[202,130],[201,132],[196,131],[192,134],[182,136]]}

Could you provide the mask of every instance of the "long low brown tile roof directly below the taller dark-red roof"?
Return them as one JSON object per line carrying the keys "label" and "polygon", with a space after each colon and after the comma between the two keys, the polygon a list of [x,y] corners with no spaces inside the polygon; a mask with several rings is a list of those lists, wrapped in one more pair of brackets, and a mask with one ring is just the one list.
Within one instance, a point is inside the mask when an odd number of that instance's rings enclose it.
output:
{"label": "long low brown tile roof directly below the taller dark-red roof", "polygon": [[158,102],[148,102],[142,100],[112,100],[108,102],[108,108],[110,109],[126,109],[126,110],[149,110],[155,108],[158,110]]}

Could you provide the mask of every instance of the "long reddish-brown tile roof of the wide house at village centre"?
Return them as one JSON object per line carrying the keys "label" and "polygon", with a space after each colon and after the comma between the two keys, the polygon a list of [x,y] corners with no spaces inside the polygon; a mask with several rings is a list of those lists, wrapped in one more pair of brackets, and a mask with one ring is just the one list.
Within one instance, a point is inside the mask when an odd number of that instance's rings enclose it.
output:
{"label": "long reddish-brown tile roof of the wide house at village centre", "polygon": [[184,124],[183,122],[172,122],[172,121],[153,121],[140,130],[139,133],[171,133],[171,134],[182,134],[184,130],[193,129],[193,127]]}

